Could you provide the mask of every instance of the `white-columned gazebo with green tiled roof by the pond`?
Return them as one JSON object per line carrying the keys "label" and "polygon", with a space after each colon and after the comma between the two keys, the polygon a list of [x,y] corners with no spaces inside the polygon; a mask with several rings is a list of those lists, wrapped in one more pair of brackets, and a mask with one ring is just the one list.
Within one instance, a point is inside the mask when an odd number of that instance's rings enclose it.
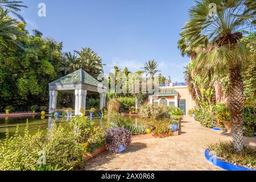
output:
{"label": "white-columned gazebo with green tiled roof by the pond", "polygon": [[100,93],[99,90],[102,90],[102,84],[83,69],[59,78],[49,83],[49,114],[55,112],[58,92],[75,94],[75,115],[80,115],[81,107],[86,106],[87,94],[100,94],[100,109],[103,109],[106,105],[106,93]]}

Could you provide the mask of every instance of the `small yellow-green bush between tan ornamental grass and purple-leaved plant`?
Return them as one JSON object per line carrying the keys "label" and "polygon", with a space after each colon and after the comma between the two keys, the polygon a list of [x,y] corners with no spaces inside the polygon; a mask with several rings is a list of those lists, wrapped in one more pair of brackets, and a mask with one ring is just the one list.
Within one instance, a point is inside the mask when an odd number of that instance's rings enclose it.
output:
{"label": "small yellow-green bush between tan ornamental grass and purple-leaved plant", "polygon": [[108,112],[104,117],[107,119],[106,125],[108,127],[123,127],[126,125],[126,120],[119,113]]}

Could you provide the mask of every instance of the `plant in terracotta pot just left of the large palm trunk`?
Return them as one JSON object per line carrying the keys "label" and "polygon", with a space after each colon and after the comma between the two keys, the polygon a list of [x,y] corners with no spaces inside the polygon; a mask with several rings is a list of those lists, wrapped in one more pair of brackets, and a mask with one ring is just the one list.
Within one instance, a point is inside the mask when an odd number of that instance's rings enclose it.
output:
{"label": "plant in terracotta pot just left of the large palm trunk", "polygon": [[221,123],[224,124],[225,129],[228,131],[228,133],[232,130],[232,123],[230,122],[230,112],[228,106],[225,104],[217,103],[214,107],[217,113],[217,119],[220,120]]}

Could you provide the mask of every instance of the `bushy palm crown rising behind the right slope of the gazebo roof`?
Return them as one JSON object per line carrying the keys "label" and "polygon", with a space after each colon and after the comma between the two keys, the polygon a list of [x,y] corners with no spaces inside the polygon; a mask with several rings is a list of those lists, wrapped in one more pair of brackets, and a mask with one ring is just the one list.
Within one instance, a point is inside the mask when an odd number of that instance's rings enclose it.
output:
{"label": "bushy palm crown rising behind the right slope of the gazebo roof", "polygon": [[92,51],[90,48],[82,48],[81,51],[75,51],[79,54],[80,66],[87,73],[93,77],[97,77],[100,73],[103,72],[102,59],[97,55],[96,52]]}

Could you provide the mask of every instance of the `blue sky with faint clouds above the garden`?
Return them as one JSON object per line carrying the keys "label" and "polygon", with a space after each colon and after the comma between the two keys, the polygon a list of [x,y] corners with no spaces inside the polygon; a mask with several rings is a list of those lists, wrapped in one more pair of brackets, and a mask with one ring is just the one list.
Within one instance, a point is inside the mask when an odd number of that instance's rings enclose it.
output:
{"label": "blue sky with faint clouds above the garden", "polygon": [[[46,17],[38,4],[46,4]],[[102,57],[104,71],[117,65],[138,71],[150,59],[162,75],[184,81],[188,57],[177,49],[180,28],[188,19],[193,0],[24,0],[29,31],[63,42],[64,51],[90,47]]]}

